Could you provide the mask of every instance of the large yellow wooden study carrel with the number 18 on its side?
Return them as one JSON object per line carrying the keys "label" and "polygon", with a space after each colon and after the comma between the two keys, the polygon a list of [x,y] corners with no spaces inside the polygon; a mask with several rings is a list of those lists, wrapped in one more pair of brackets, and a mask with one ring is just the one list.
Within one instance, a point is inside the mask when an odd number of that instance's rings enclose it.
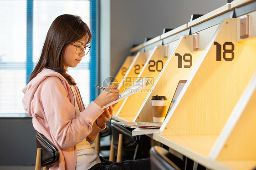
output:
{"label": "large yellow wooden study carrel with the number 18 on its side", "polygon": [[[252,123],[255,90],[245,90],[247,85],[255,88],[250,82],[256,71],[255,9],[249,8],[255,4],[251,0],[231,3],[232,11],[243,12],[218,25],[166,123],[159,134],[149,135],[210,169],[256,166],[256,155],[251,151],[256,148]],[[245,9],[249,11],[245,13]],[[240,38],[244,14],[249,16],[245,39]],[[239,111],[235,106],[242,105],[241,96],[247,103],[243,103],[245,110]]]}

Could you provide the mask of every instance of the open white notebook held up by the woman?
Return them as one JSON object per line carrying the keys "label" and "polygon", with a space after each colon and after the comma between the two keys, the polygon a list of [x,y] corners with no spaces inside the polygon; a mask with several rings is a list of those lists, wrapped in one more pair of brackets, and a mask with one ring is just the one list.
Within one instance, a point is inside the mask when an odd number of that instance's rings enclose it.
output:
{"label": "open white notebook held up by the woman", "polygon": [[123,100],[123,99],[129,97],[130,95],[133,95],[133,94],[139,92],[140,90],[145,89],[147,85],[148,85],[148,80],[146,77],[144,77],[143,79],[135,82],[133,84],[133,86],[131,86],[129,89],[127,89],[123,93],[121,93],[117,100],[114,100],[113,102],[109,103],[108,105],[103,106],[102,109],[105,109],[105,108],[117,103],[118,101]]}

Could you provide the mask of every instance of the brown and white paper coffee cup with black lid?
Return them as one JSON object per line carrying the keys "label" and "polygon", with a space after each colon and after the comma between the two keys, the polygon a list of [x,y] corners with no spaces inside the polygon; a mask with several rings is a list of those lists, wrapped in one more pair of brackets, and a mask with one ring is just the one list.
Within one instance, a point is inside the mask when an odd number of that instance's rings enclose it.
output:
{"label": "brown and white paper coffee cup with black lid", "polygon": [[152,96],[151,104],[154,122],[164,122],[164,118],[166,116],[166,101],[167,98],[165,96]]}

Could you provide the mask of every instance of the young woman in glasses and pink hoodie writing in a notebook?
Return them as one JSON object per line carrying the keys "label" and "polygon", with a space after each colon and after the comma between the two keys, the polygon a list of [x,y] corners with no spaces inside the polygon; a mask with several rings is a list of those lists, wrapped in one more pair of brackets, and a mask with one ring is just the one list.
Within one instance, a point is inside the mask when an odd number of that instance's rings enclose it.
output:
{"label": "young woman in glasses and pink hoodie writing in a notebook", "polygon": [[22,90],[26,113],[33,116],[35,130],[58,148],[60,159],[50,170],[142,169],[149,160],[111,162],[97,156],[89,142],[106,127],[113,106],[102,106],[118,99],[119,90],[109,86],[84,108],[73,78],[66,73],[76,67],[88,51],[91,32],[79,16],[60,15],[46,35],[41,57]]}

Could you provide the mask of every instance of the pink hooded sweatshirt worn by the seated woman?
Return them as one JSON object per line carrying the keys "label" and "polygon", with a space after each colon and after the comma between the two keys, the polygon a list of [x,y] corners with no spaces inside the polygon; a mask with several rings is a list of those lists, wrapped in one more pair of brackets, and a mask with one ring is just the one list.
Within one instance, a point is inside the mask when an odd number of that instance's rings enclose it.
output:
{"label": "pink hooded sweatshirt worn by the seated woman", "polygon": [[76,145],[84,138],[93,141],[105,128],[95,120],[103,110],[94,102],[86,109],[77,86],[74,86],[80,114],[76,117],[74,95],[67,80],[59,73],[44,69],[22,90],[23,106],[33,116],[35,130],[45,135],[58,148],[60,159],[50,170],[75,170]]}

